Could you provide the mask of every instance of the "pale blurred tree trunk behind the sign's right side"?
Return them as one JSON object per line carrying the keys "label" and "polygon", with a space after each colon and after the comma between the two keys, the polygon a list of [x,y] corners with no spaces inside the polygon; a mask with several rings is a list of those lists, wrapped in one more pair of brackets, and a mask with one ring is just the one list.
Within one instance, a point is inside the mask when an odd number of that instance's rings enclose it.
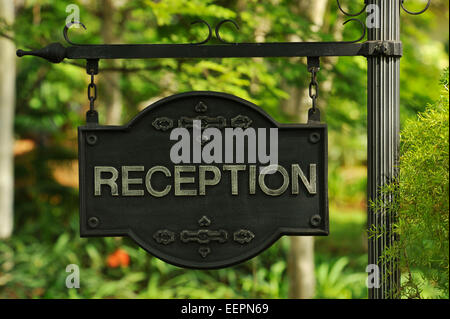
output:
{"label": "pale blurred tree trunk behind the sign's right side", "polygon": [[[323,25],[328,0],[302,1],[299,0],[293,7],[294,12],[301,13],[308,18],[311,29],[319,31]],[[293,39],[298,41],[298,39]],[[305,41],[305,40],[303,40]],[[285,85],[283,88],[289,92],[290,98],[282,104],[282,109],[295,121],[306,123],[308,106],[308,90],[299,87]],[[315,295],[314,275],[314,237],[292,236],[289,251],[288,274],[289,274],[289,298],[310,299]]]}

